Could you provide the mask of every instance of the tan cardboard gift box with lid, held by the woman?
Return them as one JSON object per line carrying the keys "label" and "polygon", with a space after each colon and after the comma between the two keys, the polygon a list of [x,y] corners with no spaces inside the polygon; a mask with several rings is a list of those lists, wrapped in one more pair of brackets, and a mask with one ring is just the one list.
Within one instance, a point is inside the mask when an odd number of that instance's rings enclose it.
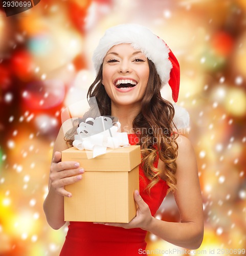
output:
{"label": "tan cardboard gift box with lid, held by the woman", "polygon": [[140,146],[107,149],[91,159],[88,154],[76,147],[62,151],[62,161],[77,161],[85,170],[82,180],[65,186],[73,195],[64,198],[65,221],[128,223],[137,211]]}

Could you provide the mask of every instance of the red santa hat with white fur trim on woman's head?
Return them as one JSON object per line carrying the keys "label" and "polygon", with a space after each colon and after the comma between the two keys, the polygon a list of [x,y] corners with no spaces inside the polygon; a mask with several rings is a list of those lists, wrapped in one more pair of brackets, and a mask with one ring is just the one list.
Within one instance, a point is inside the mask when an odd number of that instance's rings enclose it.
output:
{"label": "red santa hat with white fur trim on woman's head", "polygon": [[140,50],[154,63],[162,86],[169,84],[172,98],[177,102],[180,89],[180,65],[166,43],[141,25],[122,24],[106,30],[92,58],[96,72],[98,73],[108,50],[120,44],[131,44],[134,49]]}

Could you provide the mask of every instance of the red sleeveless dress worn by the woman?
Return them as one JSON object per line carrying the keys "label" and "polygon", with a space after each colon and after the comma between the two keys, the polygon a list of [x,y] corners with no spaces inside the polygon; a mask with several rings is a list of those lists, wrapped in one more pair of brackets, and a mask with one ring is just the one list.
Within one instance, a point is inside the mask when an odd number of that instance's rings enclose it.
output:
{"label": "red sleeveless dress worn by the woman", "polygon": [[[135,134],[129,134],[128,138],[131,145],[137,144],[138,137]],[[155,167],[158,160],[159,157],[154,162]],[[144,189],[149,180],[141,167],[139,175],[140,195],[154,216],[167,194],[168,185],[160,179],[148,194]],[[141,228],[125,229],[92,222],[70,222],[60,256],[137,256],[140,249],[146,248],[146,234],[147,231]]]}

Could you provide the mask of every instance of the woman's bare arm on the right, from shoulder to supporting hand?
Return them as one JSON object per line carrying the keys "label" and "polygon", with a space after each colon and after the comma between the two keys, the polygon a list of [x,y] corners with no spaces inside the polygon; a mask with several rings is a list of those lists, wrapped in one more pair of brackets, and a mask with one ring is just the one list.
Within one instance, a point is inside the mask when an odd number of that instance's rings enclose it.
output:
{"label": "woman's bare arm on the right, from shoulder to supporting hand", "polygon": [[140,227],[180,247],[197,249],[200,246],[203,241],[204,218],[195,153],[186,137],[179,136],[178,141],[177,189],[174,198],[180,211],[181,222],[167,222],[152,217],[148,205],[136,190],[134,198],[139,206],[137,216],[127,224],[106,223],[106,225],[124,228]]}

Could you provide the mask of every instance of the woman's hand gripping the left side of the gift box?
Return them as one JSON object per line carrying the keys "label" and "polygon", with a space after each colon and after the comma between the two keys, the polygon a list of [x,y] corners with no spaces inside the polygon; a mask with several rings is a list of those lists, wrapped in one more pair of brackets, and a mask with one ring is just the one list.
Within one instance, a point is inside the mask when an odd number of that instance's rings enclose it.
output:
{"label": "woman's hand gripping the left side of the gift box", "polygon": [[79,167],[79,163],[75,161],[61,162],[61,153],[55,152],[50,169],[50,186],[61,196],[72,197],[64,186],[82,179],[84,169]]}

